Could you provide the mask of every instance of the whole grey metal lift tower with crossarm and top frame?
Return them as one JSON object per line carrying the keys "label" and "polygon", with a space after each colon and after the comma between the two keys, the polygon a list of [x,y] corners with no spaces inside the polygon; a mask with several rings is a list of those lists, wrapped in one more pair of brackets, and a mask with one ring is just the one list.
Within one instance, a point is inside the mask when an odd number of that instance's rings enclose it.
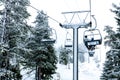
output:
{"label": "whole grey metal lift tower with crossarm and top frame", "polygon": [[79,14],[81,14],[81,13],[86,13],[86,16],[85,16],[85,18],[86,18],[87,14],[89,12],[90,12],[90,10],[62,12],[62,14],[72,14],[71,21],[66,24],[60,24],[60,26],[63,28],[66,28],[66,29],[73,29],[73,80],[79,80],[78,79],[78,29],[79,28],[87,28],[91,22],[86,23],[85,19],[84,19],[83,22],[72,23],[72,20],[75,18],[75,15],[77,15],[77,17],[79,17]]}

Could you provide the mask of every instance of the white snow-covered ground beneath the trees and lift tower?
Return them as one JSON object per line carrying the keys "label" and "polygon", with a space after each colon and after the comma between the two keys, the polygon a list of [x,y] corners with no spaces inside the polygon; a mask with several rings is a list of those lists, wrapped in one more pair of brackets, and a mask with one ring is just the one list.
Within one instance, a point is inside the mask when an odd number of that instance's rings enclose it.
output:
{"label": "white snow-covered ground beneath the trees and lift tower", "polygon": [[[96,63],[94,57],[89,59],[89,62],[84,62],[78,64],[79,68],[79,80],[100,80],[100,75],[102,72],[101,62]],[[27,74],[29,70],[24,71],[22,80],[34,80],[35,72]],[[56,74],[53,75],[53,80],[73,80],[73,64],[62,65],[57,64]]]}

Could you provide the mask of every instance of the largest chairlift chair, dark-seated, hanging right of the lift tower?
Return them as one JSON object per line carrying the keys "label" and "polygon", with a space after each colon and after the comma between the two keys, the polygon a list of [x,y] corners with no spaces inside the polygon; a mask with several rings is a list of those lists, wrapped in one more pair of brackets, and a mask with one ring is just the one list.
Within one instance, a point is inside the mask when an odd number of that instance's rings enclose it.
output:
{"label": "largest chairlift chair, dark-seated, hanging right of the lift tower", "polygon": [[86,30],[83,34],[83,42],[92,57],[95,53],[95,47],[102,44],[102,36],[99,29]]}

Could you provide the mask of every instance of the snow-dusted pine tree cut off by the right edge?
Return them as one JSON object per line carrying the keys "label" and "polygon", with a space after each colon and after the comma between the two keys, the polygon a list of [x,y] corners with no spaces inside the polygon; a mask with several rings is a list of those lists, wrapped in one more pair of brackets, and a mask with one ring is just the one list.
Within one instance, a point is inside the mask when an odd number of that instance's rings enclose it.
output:
{"label": "snow-dusted pine tree cut off by the right edge", "polygon": [[110,47],[106,53],[106,61],[101,75],[101,80],[120,80],[120,5],[113,4],[117,29],[114,31],[112,27],[106,26],[105,45]]}

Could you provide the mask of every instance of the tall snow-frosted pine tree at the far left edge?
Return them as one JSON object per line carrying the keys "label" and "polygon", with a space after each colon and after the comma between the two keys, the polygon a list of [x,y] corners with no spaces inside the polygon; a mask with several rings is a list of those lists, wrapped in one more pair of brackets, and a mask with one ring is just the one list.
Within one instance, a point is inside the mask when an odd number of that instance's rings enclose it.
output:
{"label": "tall snow-frosted pine tree at the far left edge", "polygon": [[[10,63],[11,59],[16,59],[16,56],[21,56],[24,40],[27,36],[26,19],[30,16],[27,12],[26,6],[29,4],[28,0],[0,0],[3,10],[0,11],[0,52],[7,51],[7,72],[2,75],[1,80],[14,79],[21,80],[22,75],[19,69],[18,59],[15,65]],[[4,47],[5,46],[5,47]],[[0,55],[1,55],[0,54]],[[13,57],[14,56],[14,57]],[[3,79],[4,77],[4,79]]]}

